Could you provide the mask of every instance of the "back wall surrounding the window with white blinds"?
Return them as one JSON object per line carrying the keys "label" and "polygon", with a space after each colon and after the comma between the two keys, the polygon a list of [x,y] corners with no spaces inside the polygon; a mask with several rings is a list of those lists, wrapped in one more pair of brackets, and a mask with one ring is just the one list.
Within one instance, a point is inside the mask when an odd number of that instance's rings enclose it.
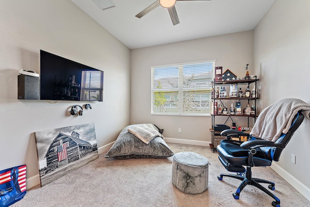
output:
{"label": "back wall surrounding the window with white blinds", "polygon": [[[246,64],[252,66],[253,31],[132,49],[131,124],[154,123],[164,128],[164,136],[168,138],[211,142],[210,116],[151,115],[151,66],[213,59],[216,66],[223,66],[223,72],[229,68],[235,75],[245,76]],[[234,121],[243,126],[246,119],[238,117]],[[225,120],[216,123],[222,122]],[[182,133],[178,133],[178,128]]]}

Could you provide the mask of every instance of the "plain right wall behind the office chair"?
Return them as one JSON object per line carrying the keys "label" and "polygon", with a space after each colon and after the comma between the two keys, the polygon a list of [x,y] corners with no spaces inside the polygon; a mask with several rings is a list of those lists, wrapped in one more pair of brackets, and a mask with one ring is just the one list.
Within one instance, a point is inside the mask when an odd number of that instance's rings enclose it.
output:
{"label": "plain right wall behind the office chair", "polygon": [[[254,30],[254,67],[261,74],[263,108],[287,97],[310,103],[309,11],[309,0],[276,0]],[[305,119],[275,169],[288,173],[291,184],[299,183],[310,200],[309,149],[310,120]],[[296,164],[291,162],[291,154],[296,155]]]}

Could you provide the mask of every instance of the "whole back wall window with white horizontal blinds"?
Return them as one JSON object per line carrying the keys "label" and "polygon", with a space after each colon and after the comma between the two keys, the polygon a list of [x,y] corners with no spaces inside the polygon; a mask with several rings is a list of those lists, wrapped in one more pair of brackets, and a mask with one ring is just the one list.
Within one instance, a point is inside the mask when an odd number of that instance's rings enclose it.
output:
{"label": "whole back wall window with white horizontal blinds", "polygon": [[152,67],[152,114],[210,115],[215,61]]}

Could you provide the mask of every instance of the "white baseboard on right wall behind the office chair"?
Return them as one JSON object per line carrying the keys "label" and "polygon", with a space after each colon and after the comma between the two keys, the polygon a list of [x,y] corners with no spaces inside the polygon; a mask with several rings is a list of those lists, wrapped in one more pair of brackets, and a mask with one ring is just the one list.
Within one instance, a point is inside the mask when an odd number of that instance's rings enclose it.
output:
{"label": "white baseboard on right wall behind the office chair", "polygon": [[273,162],[271,165],[271,169],[273,169],[276,173],[278,173],[281,177],[283,177],[289,184],[291,184],[294,187],[294,189],[296,189],[310,201],[310,189],[307,186],[305,186],[293,175],[289,174],[287,171],[281,168],[277,163]]}

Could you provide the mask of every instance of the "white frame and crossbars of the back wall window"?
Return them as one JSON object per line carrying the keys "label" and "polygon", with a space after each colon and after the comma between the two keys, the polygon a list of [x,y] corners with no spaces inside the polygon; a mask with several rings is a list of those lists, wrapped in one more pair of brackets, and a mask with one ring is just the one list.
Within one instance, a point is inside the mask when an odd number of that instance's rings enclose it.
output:
{"label": "white frame and crossbars of the back wall window", "polygon": [[[211,100],[211,92],[212,92],[212,86],[211,82],[214,80],[214,68],[215,68],[216,60],[206,60],[206,61],[200,61],[200,62],[190,62],[190,63],[181,63],[181,64],[167,64],[167,65],[156,65],[151,66],[151,115],[176,115],[176,116],[211,116],[212,111],[212,100]],[[206,80],[206,87],[184,87],[184,81],[185,76],[183,73],[183,69],[185,66],[188,65],[195,65],[195,64],[212,64],[211,70],[208,70],[208,76],[205,78]],[[178,68],[178,87],[173,90],[172,88],[160,88],[155,89],[155,69],[162,69],[162,68]],[[198,67],[197,67],[198,68]],[[196,68],[196,69],[197,69]],[[169,77],[169,76],[167,76]],[[176,77],[175,77],[176,78]],[[160,84],[160,82],[158,82]],[[157,84],[157,87],[158,87]],[[172,85],[172,84],[171,84]],[[181,87],[180,87],[181,86]],[[155,111],[155,93],[158,93],[158,96],[164,96],[163,98],[166,100],[165,95],[168,96],[168,93],[171,93],[171,96],[177,97],[177,104],[174,104],[174,107],[177,105],[177,112],[158,112]],[[191,92],[194,92],[194,94],[190,94]],[[161,94],[164,93],[164,94]],[[196,97],[193,97],[193,99],[190,99],[192,102],[200,102],[201,104],[198,106],[202,107],[204,105],[207,109],[204,109],[204,111],[194,111],[190,112],[190,108],[188,108],[188,111],[186,111],[185,101],[184,101],[184,93],[189,93],[191,96],[197,96],[199,97],[199,100],[196,101]],[[197,93],[197,94],[195,94]],[[174,94],[174,95],[173,95]],[[177,94],[177,95],[176,95]],[[206,96],[206,100],[203,100],[203,96]],[[171,99],[169,99],[171,100]],[[173,103],[173,101],[171,101]],[[166,104],[166,103],[165,103]]]}

